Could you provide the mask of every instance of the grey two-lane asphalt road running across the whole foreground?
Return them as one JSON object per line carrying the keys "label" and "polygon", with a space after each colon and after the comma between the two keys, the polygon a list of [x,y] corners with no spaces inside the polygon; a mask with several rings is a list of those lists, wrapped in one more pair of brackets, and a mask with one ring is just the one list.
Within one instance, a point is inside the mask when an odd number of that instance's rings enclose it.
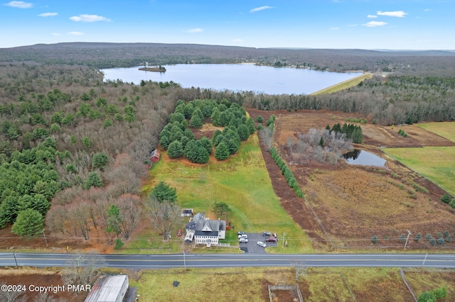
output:
{"label": "grey two-lane asphalt road running across the whole foreground", "polygon": [[[97,255],[102,267],[168,269],[173,267],[290,267],[304,262],[308,267],[433,267],[455,269],[452,254],[178,254]],[[71,254],[0,253],[0,267],[65,267]]]}

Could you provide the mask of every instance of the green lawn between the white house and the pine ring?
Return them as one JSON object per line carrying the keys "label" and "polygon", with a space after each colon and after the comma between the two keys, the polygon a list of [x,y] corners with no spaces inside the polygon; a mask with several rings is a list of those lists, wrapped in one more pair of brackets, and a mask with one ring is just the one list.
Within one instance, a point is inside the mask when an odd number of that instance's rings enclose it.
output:
{"label": "green lawn between the white house and the pine ring", "polygon": [[[208,164],[191,164],[186,160],[169,160],[166,152],[151,168],[151,190],[159,181],[176,187],[182,208],[193,208],[212,219],[215,201],[228,203],[231,212],[227,222],[233,227],[225,242],[238,245],[237,231],[262,233],[267,230],[282,237],[292,238],[288,247],[269,247],[269,252],[314,252],[309,237],[284,211],[274,194],[272,183],[259,148],[257,135],[242,142],[239,152],[229,160],[218,162],[213,155]],[[225,217],[221,217],[224,219]],[[182,229],[184,225],[182,225]],[[273,249],[273,250],[271,250]],[[228,252],[228,251],[227,251]]]}

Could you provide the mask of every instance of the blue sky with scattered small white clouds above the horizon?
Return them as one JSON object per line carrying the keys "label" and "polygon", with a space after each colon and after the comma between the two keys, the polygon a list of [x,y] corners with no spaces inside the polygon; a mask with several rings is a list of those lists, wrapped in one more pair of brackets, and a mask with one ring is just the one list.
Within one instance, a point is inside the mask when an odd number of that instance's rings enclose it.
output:
{"label": "blue sky with scattered small white clouds above the horizon", "polygon": [[455,50],[455,0],[0,0],[0,47],[196,43]]}

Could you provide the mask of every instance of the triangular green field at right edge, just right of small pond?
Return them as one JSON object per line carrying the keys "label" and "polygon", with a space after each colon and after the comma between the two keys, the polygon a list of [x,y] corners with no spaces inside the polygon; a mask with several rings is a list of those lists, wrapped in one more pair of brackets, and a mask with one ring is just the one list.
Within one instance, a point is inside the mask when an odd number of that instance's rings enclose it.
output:
{"label": "triangular green field at right edge, just right of small pond", "polygon": [[385,148],[382,150],[455,195],[455,147]]}

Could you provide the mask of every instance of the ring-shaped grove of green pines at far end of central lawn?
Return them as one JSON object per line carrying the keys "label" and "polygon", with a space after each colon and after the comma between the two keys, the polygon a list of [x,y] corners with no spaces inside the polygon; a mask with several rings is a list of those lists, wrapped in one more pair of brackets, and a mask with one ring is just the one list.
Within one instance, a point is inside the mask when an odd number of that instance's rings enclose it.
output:
{"label": "ring-shaped grove of green pines at far end of central lawn", "polygon": [[[214,126],[224,127],[223,131],[215,130],[212,140],[205,137],[196,140],[190,128],[201,127],[208,118]],[[159,135],[159,142],[171,158],[185,156],[191,162],[205,164],[213,147],[215,158],[225,160],[237,152],[240,142],[254,132],[255,121],[247,118],[245,108],[239,104],[226,99],[196,99],[188,103],[179,100]]]}

